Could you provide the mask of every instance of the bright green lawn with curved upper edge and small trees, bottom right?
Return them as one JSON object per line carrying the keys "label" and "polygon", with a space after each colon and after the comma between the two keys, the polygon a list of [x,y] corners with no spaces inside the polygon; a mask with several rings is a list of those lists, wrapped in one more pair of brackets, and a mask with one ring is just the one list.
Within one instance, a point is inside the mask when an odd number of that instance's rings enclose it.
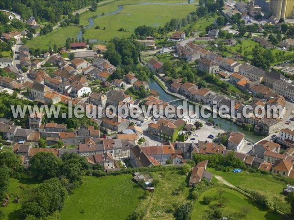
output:
{"label": "bright green lawn with curved upper edge and small trees, bottom right", "polygon": [[281,219],[278,215],[268,210],[264,210],[258,206],[250,199],[245,197],[243,194],[237,192],[236,190],[218,187],[212,188],[204,193],[198,198],[196,204],[194,205],[192,219],[202,220],[203,215],[206,211],[211,211],[209,206],[203,203],[204,196],[216,197],[210,204],[218,204],[219,189],[225,190],[222,194],[224,198],[228,199],[228,203],[222,209],[223,217],[228,217],[230,214],[246,212],[246,218],[248,220],[278,220]]}

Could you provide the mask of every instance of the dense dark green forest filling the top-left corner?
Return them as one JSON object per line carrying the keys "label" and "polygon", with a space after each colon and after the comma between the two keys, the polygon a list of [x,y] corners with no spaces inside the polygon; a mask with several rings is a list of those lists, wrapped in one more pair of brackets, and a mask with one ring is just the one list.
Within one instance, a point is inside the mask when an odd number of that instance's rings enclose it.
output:
{"label": "dense dark green forest filling the top-left corner", "polygon": [[61,20],[62,15],[91,5],[99,0],[1,0],[0,8],[17,12],[25,20],[34,16],[37,22],[48,21],[53,24]]}

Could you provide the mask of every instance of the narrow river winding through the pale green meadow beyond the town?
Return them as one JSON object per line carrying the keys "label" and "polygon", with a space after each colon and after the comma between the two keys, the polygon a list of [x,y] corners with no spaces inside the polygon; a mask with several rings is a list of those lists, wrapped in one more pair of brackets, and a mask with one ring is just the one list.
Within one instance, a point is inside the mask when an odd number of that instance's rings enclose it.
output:
{"label": "narrow river winding through the pale green meadow beyond the town", "polygon": [[[190,0],[190,3],[193,3],[194,0]],[[148,4],[160,4],[160,5],[181,5],[181,4],[188,4],[189,1],[186,1],[186,2],[182,2],[182,3],[163,3],[163,2],[141,2],[139,4],[127,4],[127,5],[148,5]],[[193,3],[195,5],[198,5],[198,3]],[[109,16],[109,15],[115,15],[115,14],[118,14],[119,12],[121,12],[123,10],[123,5],[118,5],[118,9],[115,10],[115,11],[112,11],[112,12],[108,12],[108,13],[105,13],[104,15],[96,15],[96,16],[93,16],[91,18],[88,19],[88,22],[89,22],[89,25],[84,27],[85,29],[89,29],[90,27],[92,27],[94,25],[94,19],[96,18],[99,18],[101,16]],[[82,39],[83,37],[83,32],[80,31],[76,37],[77,40],[80,40]],[[106,42],[102,42],[102,41],[97,41],[98,43],[101,43],[101,44],[104,44]]]}

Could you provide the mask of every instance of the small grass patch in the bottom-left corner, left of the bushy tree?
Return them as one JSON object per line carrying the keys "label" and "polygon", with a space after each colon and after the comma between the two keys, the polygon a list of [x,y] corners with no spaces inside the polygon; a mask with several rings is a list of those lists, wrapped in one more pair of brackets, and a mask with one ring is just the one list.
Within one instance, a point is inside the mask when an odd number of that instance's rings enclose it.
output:
{"label": "small grass patch in the bottom-left corner, left of the bushy tree", "polygon": [[[13,200],[16,197],[21,198],[21,201],[28,198],[29,191],[28,189],[35,187],[37,185],[37,182],[35,180],[18,180],[10,178],[10,184],[8,189],[8,195],[10,197],[9,203],[6,207],[1,207],[1,212],[4,214],[5,220],[15,220],[15,219],[21,219],[21,207],[22,203],[15,203]],[[22,186],[23,189],[20,188]],[[1,218],[2,219],[2,218]]]}

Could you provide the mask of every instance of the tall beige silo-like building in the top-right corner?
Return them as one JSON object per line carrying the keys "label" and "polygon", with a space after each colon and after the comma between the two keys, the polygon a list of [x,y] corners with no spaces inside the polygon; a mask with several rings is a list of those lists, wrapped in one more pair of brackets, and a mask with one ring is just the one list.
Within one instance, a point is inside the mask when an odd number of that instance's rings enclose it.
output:
{"label": "tall beige silo-like building in the top-right corner", "polygon": [[294,0],[270,0],[270,12],[280,18],[293,17]]}

